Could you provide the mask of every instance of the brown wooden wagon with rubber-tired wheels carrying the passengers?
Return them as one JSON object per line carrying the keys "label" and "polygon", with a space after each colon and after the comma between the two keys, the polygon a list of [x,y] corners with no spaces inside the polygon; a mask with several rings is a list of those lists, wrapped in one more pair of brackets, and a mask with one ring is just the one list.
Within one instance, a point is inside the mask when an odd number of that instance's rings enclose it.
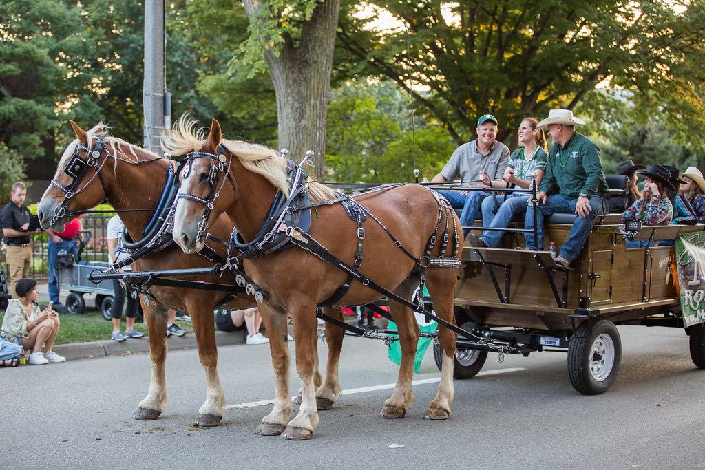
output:
{"label": "brown wooden wagon with rubber-tired wheels carrying the passengers", "polygon": [[[560,246],[575,216],[557,215],[547,218],[544,243]],[[505,235],[505,248],[473,247],[468,237],[455,290],[455,319],[492,347],[467,348],[459,338],[455,378],[477,374],[486,354],[498,348],[524,356],[562,352],[573,388],[596,395],[609,390],[619,373],[617,326],[683,328],[670,242],[704,225],[657,225],[625,234],[618,220],[619,214],[598,216],[570,267],[556,264],[548,251],[513,249],[523,242],[515,234]],[[627,248],[626,237],[648,245],[665,243]],[[705,326],[690,326],[686,333],[693,363],[705,369]],[[437,346],[434,352],[438,359]],[[440,367],[439,360],[436,364]]]}

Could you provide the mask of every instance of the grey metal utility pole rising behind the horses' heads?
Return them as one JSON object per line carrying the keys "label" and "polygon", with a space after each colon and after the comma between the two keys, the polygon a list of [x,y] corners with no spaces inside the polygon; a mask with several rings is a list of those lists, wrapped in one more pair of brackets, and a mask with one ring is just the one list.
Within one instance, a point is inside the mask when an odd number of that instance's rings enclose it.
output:
{"label": "grey metal utility pole rising behind the horses' heads", "polygon": [[145,1],[145,80],[142,128],[145,149],[161,154],[161,135],[171,127],[171,94],[166,91],[164,0]]}

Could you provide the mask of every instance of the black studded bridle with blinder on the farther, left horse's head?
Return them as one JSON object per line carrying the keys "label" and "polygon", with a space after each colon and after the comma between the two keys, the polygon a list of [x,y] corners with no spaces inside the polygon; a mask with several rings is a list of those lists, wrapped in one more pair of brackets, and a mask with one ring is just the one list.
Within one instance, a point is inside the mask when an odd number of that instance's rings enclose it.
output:
{"label": "black studded bridle with blinder on the farther, left horse's head", "polygon": [[[59,204],[59,206],[54,209],[54,216],[51,217],[49,225],[54,225],[56,222],[59,221],[60,218],[66,215],[66,207],[68,207],[68,202],[71,200],[71,198],[74,197],[76,194],[83,192],[88,187],[88,185],[92,183],[96,176],[100,180],[100,185],[103,187],[103,191],[106,195],[108,194],[108,190],[105,187],[103,178],[100,175],[101,168],[103,167],[105,162],[108,161],[108,158],[106,156],[103,162],[100,162],[100,156],[102,155],[105,149],[106,147],[102,139],[98,139],[95,142],[95,147],[92,149],[92,151],[90,151],[90,154],[88,154],[88,147],[86,147],[85,145],[79,143],[76,146],[75,154],[73,154],[71,160],[68,161],[68,163],[66,164],[66,168],[63,169],[63,173],[66,173],[66,175],[71,178],[71,183],[67,186],[64,186],[59,183],[56,178],[51,180],[51,184],[58,187],[59,190],[63,191],[65,197],[63,198],[61,204]],[[86,154],[88,154],[87,159],[82,159],[82,157],[80,156],[81,151],[85,151]],[[85,185],[78,188],[89,168],[95,168],[95,174],[93,175],[93,178],[88,180]]]}

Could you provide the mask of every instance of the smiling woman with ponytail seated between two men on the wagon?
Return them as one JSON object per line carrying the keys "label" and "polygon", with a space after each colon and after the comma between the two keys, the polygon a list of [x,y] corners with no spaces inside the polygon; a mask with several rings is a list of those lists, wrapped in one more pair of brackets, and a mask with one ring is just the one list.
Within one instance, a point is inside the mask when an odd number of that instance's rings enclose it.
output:
{"label": "smiling woman with ponytail seated between two men on the wagon", "polygon": [[[541,179],[546,173],[548,152],[546,151],[546,134],[537,126],[539,121],[534,118],[525,118],[519,125],[519,149],[510,156],[503,180],[507,185],[514,184],[522,189],[532,185],[532,178],[536,178],[539,187]],[[494,197],[487,197],[482,202],[482,225],[490,228],[507,228],[514,214],[525,212],[527,202],[531,196],[526,192],[513,192],[506,199],[498,197],[503,202],[497,206]],[[485,230],[476,244],[484,247],[496,248],[500,245],[503,230]],[[472,235],[470,237],[472,244]]]}

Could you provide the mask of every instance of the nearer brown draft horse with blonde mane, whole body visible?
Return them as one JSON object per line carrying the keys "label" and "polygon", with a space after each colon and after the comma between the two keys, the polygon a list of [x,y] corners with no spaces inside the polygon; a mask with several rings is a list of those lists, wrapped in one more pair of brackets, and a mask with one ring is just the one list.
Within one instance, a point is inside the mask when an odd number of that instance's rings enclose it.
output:
{"label": "nearer brown draft horse with blonde mane, whole body visible", "polygon": [[[228,214],[238,228],[245,242],[253,240],[264,224],[269,208],[278,191],[288,192],[286,183],[286,160],[277,152],[266,147],[245,142],[221,139],[220,125],[212,121],[206,140],[199,141],[194,136],[173,132],[168,151],[185,154],[189,151],[218,154],[219,144],[228,151],[229,173],[233,185],[220,185],[225,172],[212,186],[212,159],[191,160],[188,174],[183,174],[180,194],[203,199],[212,194],[212,187],[222,187],[221,197],[214,201],[210,219],[223,213]],[[222,160],[221,160],[222,161]],[[217,163],[217,162],[216,162]],[[309,181],[312,199],[333,199],[326,193],[327,188]],[[442,233],[446,225],[448,211],[443,213],[441,230],[436,225],[439,202],[427,188],[417,185],[403,185],[383,192],[363,194],[356,198],[370,213],[376,215],[401,244],[414,256],[420,258],[427,247],[431,235]],[[324,205],[318,208],[319,216],[313,217],[309,234],[329,249],[339,259],[352,264],[356,249],[357,224],[343,211],[341,204]],[[202,245],[199,223],[204,214],[204,206],[197,200],[179,199],[174,221],[173,238],[186,253],[197,252]],[[458,217],[450,211],[449,220],[453,234],[462,233]],[[394,246],[380,225],[370,221],[365,225],[364,262],[361,273],[376,283],[383,285],[405,299],[419,285],[419,275],[410,275],[415,261],[405,256]],[[462,246],[460,247],[462,249]],[[436,245],[434,256],[440,249]],[[443,256],[451,256],[447,247]],[[281,340],[281,334],[270,335],[269,347],[276,374],[276,401],[272,412],[262,419],[257,433],[277,435],[301,440],[310,438],[318,423],[316,397],[314,395],[314,356],[316,343],[315,311],[319,303],[328,299],[338,286],[345,282],[346,274],[332,264],[321,261],[317,256],[302,249],[291,248],[283,252],[266,254],[256,259],[245,259],[245,271],[255,282],[269,293],[269,301],[259,304],[260,311],[269,332],[283,332],[286,327],[286,313],[291,316],[296,339],[296,369],[301,380],[302,401],[300,411],[292,421],[292,405],[288,392],[288,350]],[[427,287],[434,302],[436,314],[449,321],[453,319],[453,291],[458,276],[457,268],[431,268],[427,271]],[[340,305],[357,305],[379,299],[379,292],[353,282]],[[403,357],[398,381],[393,395],[386,400],[382,415],[386,418],[402,418],[414,400],[412,373],[414,354],[419,338],[419,327],[409,307],[390,302],[391,315],[398,325]],[[439,340],[443,350],[443,371],[438,394],[431,400],[424,416],[429,419],[446,419],[450,416],[450,403],[453,402],[453,354],[456,334],[446,328],[439,330]],[[326,371],[327,372],[327,371]],[[326,373],[326,379],[328,374]],[[320,393],[319,393],[320,395]]]}

